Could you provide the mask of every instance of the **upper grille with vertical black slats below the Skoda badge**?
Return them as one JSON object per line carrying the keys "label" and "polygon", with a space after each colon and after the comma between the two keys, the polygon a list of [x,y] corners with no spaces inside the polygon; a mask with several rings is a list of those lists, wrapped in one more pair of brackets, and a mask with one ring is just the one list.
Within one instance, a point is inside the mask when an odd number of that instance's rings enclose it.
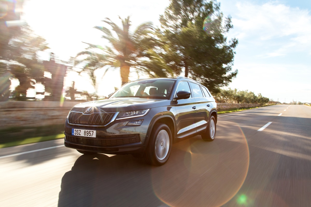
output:
{"label": "upper grille with vertical black slats below the Skoda badge", "polygon": [[106,125],[108,124],[114,113],[93,113],[91,115],[85,115],[79,112],[71,111],[68,116],[69,124],[80,125]]}

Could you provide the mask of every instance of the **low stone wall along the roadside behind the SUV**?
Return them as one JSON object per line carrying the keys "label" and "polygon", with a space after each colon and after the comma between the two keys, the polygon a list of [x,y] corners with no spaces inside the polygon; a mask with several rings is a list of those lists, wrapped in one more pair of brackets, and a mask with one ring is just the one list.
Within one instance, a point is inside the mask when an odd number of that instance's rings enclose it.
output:
{"label": "low stone wall along the roadside behind the SUV", "polygon": [[[4,101],[0,102],[0,129],[63,124],[69,110],[79,102]],[[258,104],[217,103],[217,110],[256,107]]]}

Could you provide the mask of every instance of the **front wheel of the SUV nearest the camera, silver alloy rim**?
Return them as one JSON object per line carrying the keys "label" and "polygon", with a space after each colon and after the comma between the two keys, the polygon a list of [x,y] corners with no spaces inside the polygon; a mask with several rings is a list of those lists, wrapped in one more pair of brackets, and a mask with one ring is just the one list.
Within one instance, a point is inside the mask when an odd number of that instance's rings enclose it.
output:
{"label": "front wheel of the SUV nearest the camera, silver alloy rim", "polygon": [[144,159],[146,163],[160,166],[167,162],[172,150],[172,133],[166,124],[157,123],[152,129]]}

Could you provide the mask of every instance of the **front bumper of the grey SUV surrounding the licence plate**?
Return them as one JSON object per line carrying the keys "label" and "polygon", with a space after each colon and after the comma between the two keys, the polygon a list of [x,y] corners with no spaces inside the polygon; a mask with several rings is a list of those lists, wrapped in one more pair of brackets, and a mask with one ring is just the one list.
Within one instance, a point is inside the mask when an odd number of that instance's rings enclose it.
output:
{"label": "front bumper of the grey SUV surrounding the licence plate", "polygon": [[[138,118],[139,119],[139,118]],[[143,117],[140,126],[127,126],[129,121],[137,118],[117,120],[106,127],[77,126],[65,122],[65,146],[105,154],[137,154],[142,153],[146,146],[146,134],[151,118]],[[124,124],[124,125],[123,125]],[[96,138],[72,135],[72,128],[96,130]]]}

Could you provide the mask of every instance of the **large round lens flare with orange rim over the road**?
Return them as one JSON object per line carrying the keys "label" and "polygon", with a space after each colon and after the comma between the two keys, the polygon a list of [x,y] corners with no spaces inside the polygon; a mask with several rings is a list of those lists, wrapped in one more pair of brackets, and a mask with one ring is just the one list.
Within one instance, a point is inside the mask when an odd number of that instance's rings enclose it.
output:
{"label": "large round lens flare with orange rim over the road", "polygon": [[226,133],[213,142],[196,136],[175,143],[168,163],[152,169],[154,193],[166,205],[217,207],[238,193],[248,173],[248,143],[235,123],[218,130]]}

